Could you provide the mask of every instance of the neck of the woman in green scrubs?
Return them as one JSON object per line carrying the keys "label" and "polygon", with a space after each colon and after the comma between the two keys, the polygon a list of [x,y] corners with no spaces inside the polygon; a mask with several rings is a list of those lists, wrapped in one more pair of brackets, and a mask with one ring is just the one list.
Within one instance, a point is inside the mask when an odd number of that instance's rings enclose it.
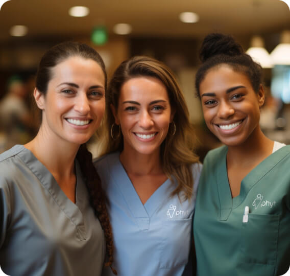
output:
{"label": "neck of the woman in green scrubs", "polygon": [[260,162],[272,153],[273,145],[274,142],[257,127],[245,143],[228,146],[227,162],[238,166]]}

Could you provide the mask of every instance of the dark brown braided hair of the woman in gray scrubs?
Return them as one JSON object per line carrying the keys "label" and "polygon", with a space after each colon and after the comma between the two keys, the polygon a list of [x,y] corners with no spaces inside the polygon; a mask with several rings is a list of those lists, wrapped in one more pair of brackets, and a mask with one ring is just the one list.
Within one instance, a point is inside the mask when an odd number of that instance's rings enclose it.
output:
{"label": "dark brown braided hair of the woman in gray scrubs", "polygon": [[[93,48],[86,44],[66,41],[51,48],[41,58],[36,74],[36,88],[38,91],[46,95],[47,86],[53,77],[53,68],[65,59],[75,56],[84,59],[92,59],[101,66],[105,76],[106,90],[107,74],[102,57]],[[105,265],[111,266],[113,262],[114,247],[111,224],[106,209],[105,194],[101,186],[101,179],[92,164],[92,155],[87,150],[85,144],[81,145],[79,148],[77,159],[81,166],[83,177],[85,178],[86,187],[89,191],[90,203],[104,231],[106,239],[106,254],[108,258]],[[113,273],[116,274],[116,271],[112,266],[111,269]]]}

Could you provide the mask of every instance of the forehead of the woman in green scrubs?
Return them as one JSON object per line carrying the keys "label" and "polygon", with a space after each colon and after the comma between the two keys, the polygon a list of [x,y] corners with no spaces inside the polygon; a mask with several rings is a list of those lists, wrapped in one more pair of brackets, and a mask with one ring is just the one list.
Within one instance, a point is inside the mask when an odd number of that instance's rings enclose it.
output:
{"label": "forehead of the woman in green scrubs", "polygon": [[237,72],[227,64],[211,68],[200,83],[200,93],[210,93],[215,90],[227,89],[243,85],[252,88],[249,78],[242,72]]}

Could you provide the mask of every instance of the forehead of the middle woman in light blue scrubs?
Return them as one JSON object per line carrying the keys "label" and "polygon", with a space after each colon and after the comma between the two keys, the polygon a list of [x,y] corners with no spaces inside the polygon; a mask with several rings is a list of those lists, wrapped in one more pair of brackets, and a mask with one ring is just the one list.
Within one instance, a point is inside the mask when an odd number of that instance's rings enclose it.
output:
{"label": "forehead of the middle woman in light blue scrubs", "polygon": [[126,81],[121,89],[119,99],[122,101],[154,101],[162,99],[168,101],[165,85],[154,77],[135,77]]}

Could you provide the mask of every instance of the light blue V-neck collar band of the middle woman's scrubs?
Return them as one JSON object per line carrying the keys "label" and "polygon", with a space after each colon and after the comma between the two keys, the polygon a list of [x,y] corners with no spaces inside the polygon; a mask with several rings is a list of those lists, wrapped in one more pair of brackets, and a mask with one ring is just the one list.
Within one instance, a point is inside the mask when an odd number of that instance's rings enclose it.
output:
{"label": "light blue V-neck collar band of the middle woman's scrubs", "polygon": [[112,160],[110,161],[112,177],[114,178],[114,182],[118,186],[120,193],[122,193],[122,196],[139,228],[146,230],[149,228],[150,218],[160,205],[162,205],[163,201],[170,197],[171,189],[169,188],[171,187],[172,182],[170,179],[165,180],[146,203],[142,204],[128,174],[120,162],[119,154],[119,152],[114,153]]}

